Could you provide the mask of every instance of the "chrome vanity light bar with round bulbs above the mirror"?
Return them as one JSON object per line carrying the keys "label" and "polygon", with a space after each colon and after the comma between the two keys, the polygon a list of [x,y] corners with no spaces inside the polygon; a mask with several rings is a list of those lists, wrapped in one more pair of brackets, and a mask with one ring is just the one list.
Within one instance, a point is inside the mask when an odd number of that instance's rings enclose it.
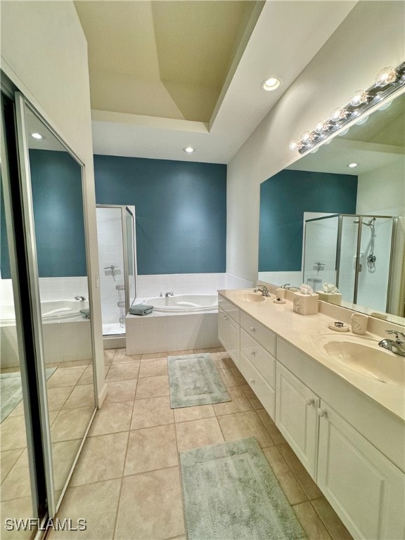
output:
{"label": "chrome vanity light bar with round bulbs above the mirror", "polygon": [[[263,85],[262,85],[263,87]],[[388,105],[383,103],[397,91],[405,88],[405,62],[397,68],[388,65],[380,70],[375,77],[375,83],[366,90],[356,90],[345,107],[333,109],[328,120],[316,122],[312,131],[304,131],[300,140],[290,142],[289,148],[293,152],[298,150],[300,154],[313,151],[322,144],[328,144],[335,135],[344,135],[353,124],[363,124],[368,116],[364,115],[371,109],[383,110]],[[390,104],[390,101],[387,102]],[[363,116],[364,115],[364,116]],[[356,118],[360,117],[360,120]],[[348,165],[349,167],[349,165]]]}

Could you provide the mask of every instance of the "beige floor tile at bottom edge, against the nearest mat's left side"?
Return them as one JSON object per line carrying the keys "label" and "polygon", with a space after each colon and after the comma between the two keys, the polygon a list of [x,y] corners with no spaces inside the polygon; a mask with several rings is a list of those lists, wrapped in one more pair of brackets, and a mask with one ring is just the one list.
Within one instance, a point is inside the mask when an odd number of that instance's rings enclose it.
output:
{"label": "beige floor tile at bottom edge, against the nearest mat's left side", "polygon": [[179,469],[124,477],[115,540],[160,540],[181,534],[184,518]]}

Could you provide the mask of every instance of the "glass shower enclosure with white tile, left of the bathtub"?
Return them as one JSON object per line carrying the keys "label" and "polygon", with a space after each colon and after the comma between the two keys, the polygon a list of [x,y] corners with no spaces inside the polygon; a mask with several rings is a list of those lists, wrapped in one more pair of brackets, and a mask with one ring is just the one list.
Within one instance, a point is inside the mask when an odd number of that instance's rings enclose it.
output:
{"label": "glass shower enclosure with white tile, left of the bathtub", "polygon": [[124,335],[136,298],[135,207],[97,205],[103,335]]}

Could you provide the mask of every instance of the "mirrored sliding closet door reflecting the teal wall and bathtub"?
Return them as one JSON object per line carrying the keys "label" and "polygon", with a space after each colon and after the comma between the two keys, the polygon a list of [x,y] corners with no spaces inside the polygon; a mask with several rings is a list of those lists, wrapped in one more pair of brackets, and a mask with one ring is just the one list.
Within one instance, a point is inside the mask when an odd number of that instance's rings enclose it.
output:
{"label": "mirrored sliding closet door reflecting the teal wall and bathtub", "polygon": [[[49,513],[58,508],[95,412],[82,165],[23,98],[24,213],[32,234],[37,373]],[[39,134],[34,138],[33,133]]]}

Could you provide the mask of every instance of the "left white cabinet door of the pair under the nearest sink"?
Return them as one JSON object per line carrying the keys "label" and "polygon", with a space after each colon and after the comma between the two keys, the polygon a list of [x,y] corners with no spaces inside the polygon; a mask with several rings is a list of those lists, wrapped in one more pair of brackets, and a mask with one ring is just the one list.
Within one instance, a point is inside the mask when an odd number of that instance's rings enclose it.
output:
{"label": "left white cabinet door of the pair under the nearest sink", "polygon": [[316,472],[319,397],[276,363],[276,425],[311,477]]}

